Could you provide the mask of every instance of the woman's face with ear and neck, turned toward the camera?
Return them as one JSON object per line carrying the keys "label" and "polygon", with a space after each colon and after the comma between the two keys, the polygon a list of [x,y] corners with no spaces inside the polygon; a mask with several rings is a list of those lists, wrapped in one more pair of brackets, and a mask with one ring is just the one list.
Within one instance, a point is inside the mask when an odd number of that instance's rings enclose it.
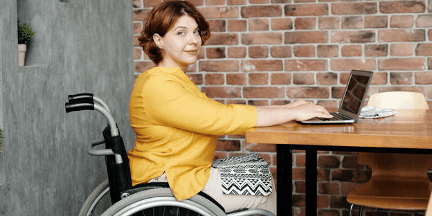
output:
{"label": "woman's face with ear and neck, turned toward the camera", "polygon": [[197,21],[183,15],[163,37],[155,34],[154,42],[163,49],[163,60],[158,66],[179,66],[183,71],[197,61],[202,41]]}

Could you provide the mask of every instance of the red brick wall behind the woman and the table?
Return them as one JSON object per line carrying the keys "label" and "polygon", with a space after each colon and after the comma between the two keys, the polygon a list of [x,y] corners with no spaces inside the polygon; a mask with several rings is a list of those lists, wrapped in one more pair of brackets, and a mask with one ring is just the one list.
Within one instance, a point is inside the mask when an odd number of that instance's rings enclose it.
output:
{"label": "red brick wall behind the woman and the table", "polygon": [[[161,0],[134,1],[135,74],[152,66],[138,47],[141,21]],[[417,91],[432,105],[432,0],[191,0],[213,37],[188,76],[226,104],[299,98],[338,107],[351,69],[374,71],[368,95]],[[257,152],[276,176],[276,145],[221,136],[216,158]],[[293,161],[295,215],[304,215],[305,153]],[[355,152],[318,152],[318,214],[348,215],[345,196],[368,181]],[[366,208],[365,215],[422,215]]]}

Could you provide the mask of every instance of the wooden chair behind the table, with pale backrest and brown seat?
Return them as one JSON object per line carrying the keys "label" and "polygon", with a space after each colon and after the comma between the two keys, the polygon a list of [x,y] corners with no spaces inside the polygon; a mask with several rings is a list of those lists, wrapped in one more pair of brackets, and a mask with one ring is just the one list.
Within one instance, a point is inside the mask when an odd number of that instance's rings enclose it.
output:
{"label": "wooden chair behind the table, with pale backrest and brown seat", "polygon": [[[429,109],[422,93],[402,91],[372,94],[368,105],[389,109]],[[432,156],[359,152],[357,163],[369,165],[372,177],[348,194],[350,215],[354,204],[360,206],[359,215],[362,206],[392,210],[427,208],[432,190],[427,170],[432,167]]]}

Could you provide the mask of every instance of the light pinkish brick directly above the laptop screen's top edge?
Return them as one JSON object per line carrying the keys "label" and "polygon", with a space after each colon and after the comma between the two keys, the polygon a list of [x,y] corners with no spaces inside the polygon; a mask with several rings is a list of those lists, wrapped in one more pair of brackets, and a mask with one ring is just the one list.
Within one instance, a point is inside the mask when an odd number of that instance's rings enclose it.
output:
{"label": "light pinkish brick directly above the laptop screen's top edge", "polygon": [[375,59],[334,59],[330,60],[330,68],[333,71],[351,71],[352,69],[374,71],[377,69]]}

